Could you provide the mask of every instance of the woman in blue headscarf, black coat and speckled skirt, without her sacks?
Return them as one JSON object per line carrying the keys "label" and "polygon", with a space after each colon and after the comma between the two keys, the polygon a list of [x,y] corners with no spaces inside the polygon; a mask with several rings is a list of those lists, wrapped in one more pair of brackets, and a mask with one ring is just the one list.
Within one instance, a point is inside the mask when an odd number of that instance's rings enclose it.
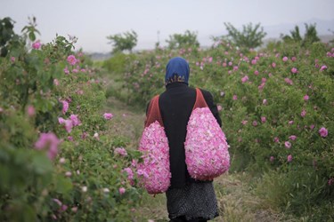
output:
{"label": "woman in blue headscarf, black coat and speckled skirt, without her sacks", "polygon": [[[184,141],[196,90],[188,86],[190,68],[180,57],[170,59],[166,68],[166,91],[159,96],[159,108],[169,143],[171,186],[167,190],[170,221],[207,221],[218,216],[212,181],[190,177],[185,164]],[[218,110],[208,91],[201,90],[208,107],[221,126]]]}

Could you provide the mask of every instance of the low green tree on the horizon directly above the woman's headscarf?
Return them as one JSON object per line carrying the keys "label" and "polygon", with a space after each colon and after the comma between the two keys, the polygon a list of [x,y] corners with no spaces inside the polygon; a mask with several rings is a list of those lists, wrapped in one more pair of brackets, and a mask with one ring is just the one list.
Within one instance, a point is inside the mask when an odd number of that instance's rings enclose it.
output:
{"label": "low green tree on the horizon directly above the woman's headscarf", "polygon": [[197,40],[197,33],[186,30],[184,34],[174,34],[166,40],[169,49],[181,49],[187,47],[197,48],[200,46]]}

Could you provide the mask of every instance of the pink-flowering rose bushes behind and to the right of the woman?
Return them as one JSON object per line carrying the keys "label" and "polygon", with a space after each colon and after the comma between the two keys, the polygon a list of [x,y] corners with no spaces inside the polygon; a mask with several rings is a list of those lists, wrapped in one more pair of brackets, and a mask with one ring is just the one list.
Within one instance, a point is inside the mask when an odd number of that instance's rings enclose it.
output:
{"label": "pink-flowering rose bushes behind and to the right of the woman", "polygon": [[334,219],[334,48],[276,42],[255,51],[221,41],[207,50],[120,54],[104,62],[117,70],[118,87],[107,93],[144,110],[164,91],[175,56],[189,61],[190,85],[214,95],[231,146],[230,173],[251,173],[251,192],[270,209]]}

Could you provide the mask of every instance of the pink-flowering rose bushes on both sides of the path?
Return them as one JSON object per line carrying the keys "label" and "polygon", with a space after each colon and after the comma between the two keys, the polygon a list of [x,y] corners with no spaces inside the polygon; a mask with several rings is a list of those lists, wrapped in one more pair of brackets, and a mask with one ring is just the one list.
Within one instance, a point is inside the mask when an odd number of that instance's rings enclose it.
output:
{"label": "pink-flowering rose bushes on both sides of the path", "polygon": [[21,34],[9,18],[0,28],[1,221],[146,221],[137,218],[145,194],[135,171],[140,155],[114,129],[118,116],[107,98],[144,112],[164,91],[174,56],[189,61],[191,86],[214,95],[231,146],[229,173],[251,175],[248,192],[263,208],[303,221],[334,219],[330,45],[255,51],[217,42],[118,54],[94,67],[76,51],[76,38],[38,41],[35,20]]}

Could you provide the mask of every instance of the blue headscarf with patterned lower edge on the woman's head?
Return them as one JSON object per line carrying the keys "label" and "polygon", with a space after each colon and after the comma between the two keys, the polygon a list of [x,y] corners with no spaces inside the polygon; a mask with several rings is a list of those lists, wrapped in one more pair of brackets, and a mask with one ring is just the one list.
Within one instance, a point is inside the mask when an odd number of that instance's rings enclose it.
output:
{"label": "blue headscarf with patterned lower edge on the woman's head", "polygon": [[181,57],[170,59],[166,67],[165,84],[175,82],[188,84],[189,72],[189,64],[185,59]]}

